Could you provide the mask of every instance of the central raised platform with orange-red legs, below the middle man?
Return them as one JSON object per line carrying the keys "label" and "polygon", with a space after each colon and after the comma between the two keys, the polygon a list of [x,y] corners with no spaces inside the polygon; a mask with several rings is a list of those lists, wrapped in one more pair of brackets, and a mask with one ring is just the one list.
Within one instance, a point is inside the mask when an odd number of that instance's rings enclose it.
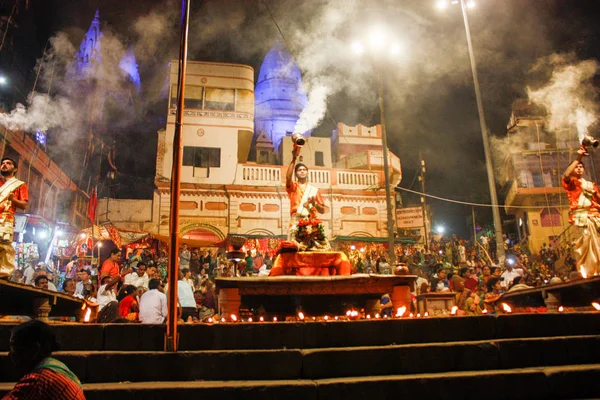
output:
{"label": "central raised platform with orange-red legs, below the middle man", "polygon": [[298,307],[312,315],[342,315],[349,308],[377,312],[379,299],[389,293],[394,308],[410,305],[415,275],[277,276],[217,278],[221,314],[240,308],[270,314],[295,315]]}

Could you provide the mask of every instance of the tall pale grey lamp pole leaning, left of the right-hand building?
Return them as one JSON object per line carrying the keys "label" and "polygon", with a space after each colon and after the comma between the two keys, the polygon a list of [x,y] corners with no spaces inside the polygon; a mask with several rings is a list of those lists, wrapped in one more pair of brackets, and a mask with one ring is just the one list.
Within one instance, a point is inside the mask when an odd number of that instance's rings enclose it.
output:
{"label": "tall pale grey lamp pole leaning, left of the right-hand building", "polygon": [[481,128],[481,138],[483,139],[483,152],[485,154],[485,167],[488,174],[488,185],[490,187],[490,198],[492,200],[492,215],[494,217],[494,231],[496,232],[496,255],[500,264],[504,262],[504,238],[502,237],[502,221],[500,220],[500,208],[498,207],[498,195],[496,194],[496,182],[494,180],[494,167],[492,166],[492,156],[490,154],[490,143],[485,124],[485,115],[483,113],[483,102],[481,101],[481,92],[479,90],[479,79],[477,78],[477,64],[473,52],[473,42],[471,41],[471,30],[469,28],[469,18],[467,16],[467,6],[465,0],[460,0],[460,6],[465,23],[465,32],[467,34],[467,46],[469,47],[469,58],[471,60],[471,72],[473,73],[473,84],[475,86],[475,98],[477,100],[477,112],[479,113],[479,126]]}

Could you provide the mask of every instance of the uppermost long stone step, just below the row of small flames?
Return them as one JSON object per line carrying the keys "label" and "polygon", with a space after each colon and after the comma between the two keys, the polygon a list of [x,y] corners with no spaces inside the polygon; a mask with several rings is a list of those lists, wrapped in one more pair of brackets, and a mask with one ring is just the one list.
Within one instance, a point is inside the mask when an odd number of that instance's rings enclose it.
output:
{"label": "uppermost long stone step, just below the row of small flames", "polygon": [[[0,324],[8,351],[14,324]],[[163,350],[165,325],[53,324],[64,350]],[[182,324],[180,350],[310,349],[600,334],[600,313],[510,314],[305,323]]]}

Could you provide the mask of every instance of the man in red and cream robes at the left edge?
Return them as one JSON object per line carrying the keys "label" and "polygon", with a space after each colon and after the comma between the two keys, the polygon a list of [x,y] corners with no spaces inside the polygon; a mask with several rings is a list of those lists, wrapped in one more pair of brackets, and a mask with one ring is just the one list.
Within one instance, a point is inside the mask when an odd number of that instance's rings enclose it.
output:
{"label": "man in red and cream robes at the left edge", "polygon": [[25,210],[29,201],[27,185],[16,173],[17,163],[4,157],[0,161],[0,279],[8,279],[15,270],[15,213],[17,208]]}

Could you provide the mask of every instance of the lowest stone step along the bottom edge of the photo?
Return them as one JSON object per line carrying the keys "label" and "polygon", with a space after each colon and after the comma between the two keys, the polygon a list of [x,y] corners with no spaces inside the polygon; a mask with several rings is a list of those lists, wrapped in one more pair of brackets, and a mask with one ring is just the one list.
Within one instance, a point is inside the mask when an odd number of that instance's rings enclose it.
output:
{"label": "lowest stone step along the bottom edge of the photo", "polygon": [[[592,364],[323,380],[90,383],[84,392],[88,400],[585,399],[600,397],[599,378],[600,364]],[[0,384],[0,395],[11,388]]]}

